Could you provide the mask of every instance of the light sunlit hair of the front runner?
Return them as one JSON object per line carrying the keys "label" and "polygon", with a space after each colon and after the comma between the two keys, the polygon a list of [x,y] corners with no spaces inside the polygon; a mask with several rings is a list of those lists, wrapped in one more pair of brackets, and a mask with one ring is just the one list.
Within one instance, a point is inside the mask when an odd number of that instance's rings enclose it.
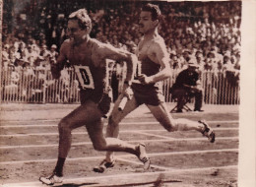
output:
{"label": "light sunlit hair of the front runner", "polygon": [[86,9],[79,9],[76,12],[73,12],[69,15],[69,20],[78,20],[78,25],[82,30],[92,30],[92,20],[88,15]]}

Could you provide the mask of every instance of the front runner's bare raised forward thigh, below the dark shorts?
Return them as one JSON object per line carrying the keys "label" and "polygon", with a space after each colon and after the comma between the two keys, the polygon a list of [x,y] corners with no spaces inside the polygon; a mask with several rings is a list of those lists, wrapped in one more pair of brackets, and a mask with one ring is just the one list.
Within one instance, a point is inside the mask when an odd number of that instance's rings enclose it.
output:
{"label": "front runner's bare raised forward thigh, below the dark shorts", "polygon": [[100,121],[101,115],[96,103],[92,100],[87,100],[84,104],[80,105],[64,117],[63,121],[67,122],[72,129],[75,129],[83,125],[88,126],[94,124],[96,121]]}

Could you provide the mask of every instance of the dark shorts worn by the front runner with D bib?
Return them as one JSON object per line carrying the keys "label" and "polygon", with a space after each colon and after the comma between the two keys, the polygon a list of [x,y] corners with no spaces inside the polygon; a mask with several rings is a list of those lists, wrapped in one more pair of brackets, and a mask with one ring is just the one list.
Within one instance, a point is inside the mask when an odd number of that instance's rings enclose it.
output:
{"label": "dark shorts worn by the front runner with D bib", "polygon": [[93,100],[97,103],[97,108],[102,112],[102,114],[106,114],[110,109],[111,97],[108,93],[92,93],[89,91],[81,91],[80,92],[80,100],[81,104],[84,104],[86,100]]}

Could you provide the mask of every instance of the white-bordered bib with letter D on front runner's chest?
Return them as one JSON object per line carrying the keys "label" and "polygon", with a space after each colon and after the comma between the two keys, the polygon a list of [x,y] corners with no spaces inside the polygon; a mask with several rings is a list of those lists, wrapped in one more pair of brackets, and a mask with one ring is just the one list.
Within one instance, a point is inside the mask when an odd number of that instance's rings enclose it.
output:
{"label": "white-bordered bib with letter D on front runner's chest", "polygon": [[95,83],[88,66],[74,66],[78,81],[83,89],[95,89]]}

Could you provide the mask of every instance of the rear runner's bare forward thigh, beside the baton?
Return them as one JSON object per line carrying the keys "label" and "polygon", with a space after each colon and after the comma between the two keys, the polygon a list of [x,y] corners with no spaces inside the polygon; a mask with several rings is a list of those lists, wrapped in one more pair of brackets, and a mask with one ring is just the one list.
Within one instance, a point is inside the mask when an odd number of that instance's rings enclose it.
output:
{"label": "rear runner's bare forward thigh, beside the baton", "polygon": [[123,95],[120,94],[117,98],[117,100],[114,103],[113,110],[111,112],[111,116],[114,119],[115,122],[119,123],[127,114],[129,114],[131,111],[136,109],[139,105],[133,96],[131,99],[127,100],[125,107],[122,111],[118,110],[118,106],[123,98]]}

